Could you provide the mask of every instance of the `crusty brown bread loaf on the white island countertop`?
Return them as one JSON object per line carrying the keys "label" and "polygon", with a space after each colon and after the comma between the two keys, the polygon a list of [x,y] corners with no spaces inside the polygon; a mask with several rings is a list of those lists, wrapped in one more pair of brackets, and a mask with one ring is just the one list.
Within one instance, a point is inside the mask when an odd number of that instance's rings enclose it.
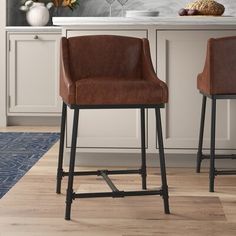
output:
{"label": "crusty brown bread loaf on the white island countertop", "polygon": [[187,4],[186,8],[198,10],[199,15],[211,16],[221,16],[225,11],[225,7],[214,0],[197,0]]}

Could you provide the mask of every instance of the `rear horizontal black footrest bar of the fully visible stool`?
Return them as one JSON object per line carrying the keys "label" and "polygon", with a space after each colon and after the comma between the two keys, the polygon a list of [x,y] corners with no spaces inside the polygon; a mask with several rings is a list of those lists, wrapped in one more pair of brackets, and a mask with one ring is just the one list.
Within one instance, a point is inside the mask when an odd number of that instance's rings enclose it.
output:
{"label": "rear horizontal black footrest bar of the fully visible stool", "polygon": [[[96,171],[75,171],[74,176],[86,176],[86,175],[97,175],[100,176],[101,172],[105,172],[107,175],[122,175],[122,174],[141,174],[142,170],[96,170]],[[68,176],[69,173],[63,171],[62,176]]]}

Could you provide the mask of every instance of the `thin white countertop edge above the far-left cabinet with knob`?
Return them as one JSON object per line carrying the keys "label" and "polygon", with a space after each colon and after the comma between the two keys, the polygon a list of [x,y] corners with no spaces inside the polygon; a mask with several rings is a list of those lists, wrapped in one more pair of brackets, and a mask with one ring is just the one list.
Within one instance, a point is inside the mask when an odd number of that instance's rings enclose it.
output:
{"label": "thin white countertop edge above the far-left cabinet with knob", "polygon": [[60,33],[61,27],[59,26],[6,26],[7,32],[50,32]]}

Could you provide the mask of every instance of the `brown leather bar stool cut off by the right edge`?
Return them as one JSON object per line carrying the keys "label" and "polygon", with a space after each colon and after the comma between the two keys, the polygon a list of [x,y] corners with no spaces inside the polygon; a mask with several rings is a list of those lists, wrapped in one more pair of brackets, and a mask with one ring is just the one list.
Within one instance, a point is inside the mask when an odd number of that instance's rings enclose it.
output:
{"label": "brown leather bar stool cut off by the right edge", "polygon": [[[197,88],[202,93],[202,112],[197,153],[196,172],[200,172],[203,159],[210,158],[209,191],[214,192],[216,175],[236,174],[236,170],[216,170],[215,159],[235,159],[235,155],[215,154],[216,100],[236,99],[236,37],[209,39],[203,72],[198,75]],[[210,155],[203,155],[202,143],[206,110],[206,98],[211,99]]]}

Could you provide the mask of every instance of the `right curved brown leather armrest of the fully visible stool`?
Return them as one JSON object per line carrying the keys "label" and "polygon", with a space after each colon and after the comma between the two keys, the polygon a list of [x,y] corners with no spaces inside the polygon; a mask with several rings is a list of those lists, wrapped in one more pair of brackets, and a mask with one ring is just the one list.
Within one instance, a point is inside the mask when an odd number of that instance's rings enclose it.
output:
{"label": "right curved brown leather armrest of the fully visible stool", "polygon": [[153,68],[152,59],[150,55],[150,47],[147,39],[143,40],[143,57],[142,57],[142,76],[145,80],[159,83],[163,90],[163,97],[165,102],[168,102],[168,87],[165,82],[161,81]]}

